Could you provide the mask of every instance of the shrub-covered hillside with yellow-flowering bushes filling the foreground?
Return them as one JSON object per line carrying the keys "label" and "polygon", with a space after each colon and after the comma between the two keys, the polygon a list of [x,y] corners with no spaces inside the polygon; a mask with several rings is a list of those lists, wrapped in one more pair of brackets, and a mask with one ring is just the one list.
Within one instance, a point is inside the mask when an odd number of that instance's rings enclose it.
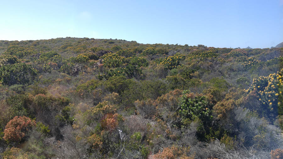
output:
{"label": "shrub-covered hillside with yellow-flowering bushes filling the foreground", "polygon": [[0,154],[154,159],[283,154],[283,48],[277,46],[72,37],[0,41]]}

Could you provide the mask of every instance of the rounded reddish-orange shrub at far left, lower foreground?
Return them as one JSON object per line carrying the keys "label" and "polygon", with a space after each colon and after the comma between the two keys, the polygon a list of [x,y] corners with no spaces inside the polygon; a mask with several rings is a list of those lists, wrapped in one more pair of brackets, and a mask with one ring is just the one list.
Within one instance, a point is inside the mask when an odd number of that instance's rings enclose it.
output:
{"label": "rounded reddish-orange shrub at far left, lower foreground", "polygon": [[3,138],[7,141],[19,142],[25,137],[26,133],[32,128],[32,126],[35,125],[36,122],[28,117],[15,116],[7,123]]}

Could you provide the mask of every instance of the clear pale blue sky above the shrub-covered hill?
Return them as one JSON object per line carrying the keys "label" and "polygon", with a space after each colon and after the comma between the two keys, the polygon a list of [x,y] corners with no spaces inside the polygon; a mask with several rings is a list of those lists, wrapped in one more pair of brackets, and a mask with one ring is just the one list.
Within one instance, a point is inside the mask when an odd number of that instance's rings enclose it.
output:
{"label": "clear pale blue sky above the shrub-covered hill", "polygon": [[283,0],[0,0],[0,40],[57,37],[267,48],[283,42]]}

